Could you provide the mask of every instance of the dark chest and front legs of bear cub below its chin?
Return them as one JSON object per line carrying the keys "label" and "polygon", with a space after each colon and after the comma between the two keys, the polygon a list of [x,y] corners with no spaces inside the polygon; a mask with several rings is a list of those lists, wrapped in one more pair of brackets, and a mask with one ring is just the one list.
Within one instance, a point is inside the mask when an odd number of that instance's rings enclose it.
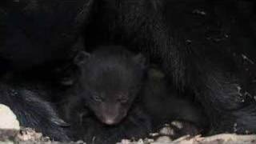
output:
{"label": "dark chest and front legs of bear cub below its chin", "polygon": [[99,122],[94,115],[86,115],[82,119],[73,115],[70,138],[74,141],[82,139],[89,144],[112,144],[120,142],[123,138],[146,138],[152,130],[151,119],[141,107],[135,106],[131,108],[122,122],[114,126]]}

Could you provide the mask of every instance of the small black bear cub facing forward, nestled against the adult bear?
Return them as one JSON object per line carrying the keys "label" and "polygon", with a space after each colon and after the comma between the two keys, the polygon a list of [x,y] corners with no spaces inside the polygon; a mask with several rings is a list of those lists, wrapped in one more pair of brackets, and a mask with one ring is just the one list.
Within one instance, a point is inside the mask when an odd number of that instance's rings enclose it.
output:
{"label": "small black bear cub facing forward, nestled against the adult bear", "polygon": [[[156,105],[162,106],[158,98],[161,93],[142,97],[146,94],[143,90],[149,88],[145,82],[150,81],[146,79],[146,59],[141,54],[133,54],[122,46],[102,46],[91,54],[79,53],[74,62],[80,74],[74,85],[64,92],[67,98],[63,98],[59,107],[63,118],[70,122],[71,138],[88,143],[114,143],[122,138],[145,137],[154,130],[153,119],[163,123],[162,118],[154,117],[154,107],[150,103],[156,100]],[[171,101],[174,93],[164,93],[162,97]],[[182,99],[174,98],[168,106],[158,109],[170,111],[168,114],[173,115],[168,118],[191,122],[200,119],[197,109]],[[178,114],[178,110],[191,113],[191,116]]]}

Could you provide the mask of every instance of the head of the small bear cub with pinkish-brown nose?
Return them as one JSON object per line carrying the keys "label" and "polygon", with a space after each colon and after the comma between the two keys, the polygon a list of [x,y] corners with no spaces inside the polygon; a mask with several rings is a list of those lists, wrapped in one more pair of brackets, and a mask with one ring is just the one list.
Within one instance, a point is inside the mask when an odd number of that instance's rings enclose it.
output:
{"label": "head of the small bear cub with pinkish-brown nose", "polygon": [[105,46],[75,58],[81,75],[79,97],[107,125],[126,117],[143,83],[145,58],[122,46]]}

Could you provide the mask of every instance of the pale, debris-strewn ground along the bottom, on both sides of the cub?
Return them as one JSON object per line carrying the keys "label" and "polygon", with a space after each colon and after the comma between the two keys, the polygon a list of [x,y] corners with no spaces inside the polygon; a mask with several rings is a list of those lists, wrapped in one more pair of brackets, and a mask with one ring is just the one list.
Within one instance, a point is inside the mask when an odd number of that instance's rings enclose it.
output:
{"label": "pale, debris-strewn ground along the bottom, on both sides of the cub", "polygon": [[[64,142],[53,142],[50,138],[43,137],[42,134],[36,133],[30,128],[22,128],[22,130],[0,130],[0,143],[49,143],[58,144]],[[83,144],[85,142],[65,142],[70,144]],[[254,144],[256,143],[256,135],[237,135],[237,134],[218,134],[210,137],[201,137],[197,135],[190,137],[183,136],[178,139],[171,140],[168,136],[160,136],[157,139],[140,139],[137,142],[124,139],[118,144]]]}

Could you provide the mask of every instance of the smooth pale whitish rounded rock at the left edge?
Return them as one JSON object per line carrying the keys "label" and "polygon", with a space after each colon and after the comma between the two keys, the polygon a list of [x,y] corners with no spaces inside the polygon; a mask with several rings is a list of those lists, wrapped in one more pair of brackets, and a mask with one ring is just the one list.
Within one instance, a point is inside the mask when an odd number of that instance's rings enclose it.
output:
{"label": "smooth pale whitish rounded rock at the left edge", "polygon": [[8,106],[0,104],[0,129],[20,130],[16,115]]}

